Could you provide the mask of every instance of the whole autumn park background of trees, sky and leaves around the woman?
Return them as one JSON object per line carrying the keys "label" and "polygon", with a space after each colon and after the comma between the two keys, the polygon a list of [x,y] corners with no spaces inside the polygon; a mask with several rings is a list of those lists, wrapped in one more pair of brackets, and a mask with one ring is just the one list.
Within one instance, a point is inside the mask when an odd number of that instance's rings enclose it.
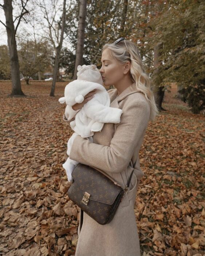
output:
{"label": "whole autumn park background of trees, sky and leaves around the woman", "polygon": [[0,0],[0,255],[75,255],[58,99],[119,37],[138,46],[159,109],[139,156],[141,254],[204,255],[204,13],[196,0]]}

